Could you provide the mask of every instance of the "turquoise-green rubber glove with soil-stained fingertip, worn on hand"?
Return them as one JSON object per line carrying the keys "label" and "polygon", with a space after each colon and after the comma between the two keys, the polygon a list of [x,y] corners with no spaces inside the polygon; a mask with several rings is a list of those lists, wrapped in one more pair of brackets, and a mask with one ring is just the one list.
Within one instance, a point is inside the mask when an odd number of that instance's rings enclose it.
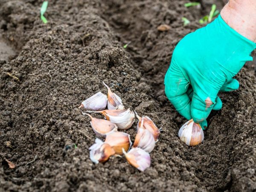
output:
{"label": "turquoise-green rubber glove with soil-stained fingertip, worn on hand", "polygon": [[[212,23],[186,35],[175,47],[165,76],[165,92],[176,110],[207,128],[206,118],[220,110],[219,91],[239,88],[232,79],[256,49],[219,15]],[[190,87],[190,88],[189,88]]]}

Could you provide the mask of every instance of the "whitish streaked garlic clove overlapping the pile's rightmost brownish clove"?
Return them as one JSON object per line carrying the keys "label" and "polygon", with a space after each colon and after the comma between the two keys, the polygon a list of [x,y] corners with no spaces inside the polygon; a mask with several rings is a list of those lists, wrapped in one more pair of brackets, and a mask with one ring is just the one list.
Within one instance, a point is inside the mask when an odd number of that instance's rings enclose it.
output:
{"label": "whitish streaked garlic clove overlapping the pile's rightmost brownish clove", "polygon": [[153,134],[147,129],[140,128],[134,140],[133,147],[142,148],[144,151],[150,153],[155,146]]}

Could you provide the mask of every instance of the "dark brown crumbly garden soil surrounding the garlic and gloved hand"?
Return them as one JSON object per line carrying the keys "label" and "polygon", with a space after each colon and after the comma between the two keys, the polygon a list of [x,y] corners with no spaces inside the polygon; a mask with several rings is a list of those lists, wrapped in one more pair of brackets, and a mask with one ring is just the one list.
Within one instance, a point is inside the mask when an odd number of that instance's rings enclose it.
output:
{"label": "dark brown crumbly garden soil surrounding the garlic and gloved hand", "polygon": [[[255,63],[236,76],[239,90],[220,93],[223,108],[207,119],[201,145],[179,140],[186,119],[164,94],[175,45],[224,1],[197,9],[183,0],[52,0],[47,24],[41,3],[0,0],[1,35],[18,53],[0,58],[0,191],[256,191]],[[171,29],[159,32],[160,24]],[[107,93],[102,81],[163,129],[145,172],[124,157],[90,161],[96,136],[78,106]],[[126,131],[132,140],[135,127]]]}

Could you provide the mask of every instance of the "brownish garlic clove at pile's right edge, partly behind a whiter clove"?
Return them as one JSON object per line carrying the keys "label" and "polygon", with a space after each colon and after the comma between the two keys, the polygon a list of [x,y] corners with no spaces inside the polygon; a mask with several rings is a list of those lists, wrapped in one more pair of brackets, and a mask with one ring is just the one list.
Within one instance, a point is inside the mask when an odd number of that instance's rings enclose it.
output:
{"label": "brownish garlic clove at pile's right edge, partly behind a whiter clove", "polygon": [[137,124],[137,131],[139,130],[139,128],[147,129],[148,131],[151,132],[151,134],[153,134],[154,140],[157,141],[160,135],[160,131],[157,128],[157,126],[154,124],[154,122],[148,116],[140,117],[137,113],[136,113],[136,116],[139,119],[139,122]]}

